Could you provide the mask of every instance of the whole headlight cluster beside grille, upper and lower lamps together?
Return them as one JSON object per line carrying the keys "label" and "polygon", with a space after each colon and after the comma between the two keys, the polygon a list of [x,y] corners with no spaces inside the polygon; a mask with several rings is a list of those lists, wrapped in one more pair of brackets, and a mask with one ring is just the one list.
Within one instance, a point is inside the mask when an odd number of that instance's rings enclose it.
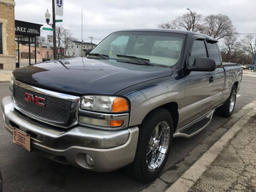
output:
{"label": "whole headlight cluster beside grille, upper and lower lamps together", "polygon": [[123,129],[129,124],[128,111],[129,103],[124,98],[87,95],[81,98],[78,120],[83,125],[100,129]]}

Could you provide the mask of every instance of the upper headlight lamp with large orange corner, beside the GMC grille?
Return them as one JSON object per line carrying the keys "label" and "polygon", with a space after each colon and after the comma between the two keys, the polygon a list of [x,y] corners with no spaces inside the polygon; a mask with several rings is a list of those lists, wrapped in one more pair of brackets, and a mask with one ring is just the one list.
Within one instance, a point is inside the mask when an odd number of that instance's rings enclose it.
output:
{"label": "upper headlight lamp with large orange corner, beside the GMC grille", "polygon": [[126,99],[120,97],[87,95],[82,97],[81,109],[121,113],[129,110],[129,104]]}

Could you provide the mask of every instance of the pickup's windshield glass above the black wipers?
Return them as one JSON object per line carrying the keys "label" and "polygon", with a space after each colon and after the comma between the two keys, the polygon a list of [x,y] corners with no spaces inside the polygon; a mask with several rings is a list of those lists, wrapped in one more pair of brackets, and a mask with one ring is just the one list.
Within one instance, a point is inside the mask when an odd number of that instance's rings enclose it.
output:
{"label": "pickup's windshield glass above the black wipers", "polygon": [[149,60],[155,65],[172,67],[178,63],[185,35],[161,32],[124,31],[116,32],[105,38],[91,52],[108,55],[109,59],[129,55]]}

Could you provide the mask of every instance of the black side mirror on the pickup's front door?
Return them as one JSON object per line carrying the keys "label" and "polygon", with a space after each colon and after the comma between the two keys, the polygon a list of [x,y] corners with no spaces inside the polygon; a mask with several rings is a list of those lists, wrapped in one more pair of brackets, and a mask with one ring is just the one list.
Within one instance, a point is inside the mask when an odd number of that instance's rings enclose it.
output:
{"label": "black side mirror on the pickup's front door", "polygon": [[216,62],[211,58],[196,58],[194,65],[189,66],[190,71],[214,71]]}

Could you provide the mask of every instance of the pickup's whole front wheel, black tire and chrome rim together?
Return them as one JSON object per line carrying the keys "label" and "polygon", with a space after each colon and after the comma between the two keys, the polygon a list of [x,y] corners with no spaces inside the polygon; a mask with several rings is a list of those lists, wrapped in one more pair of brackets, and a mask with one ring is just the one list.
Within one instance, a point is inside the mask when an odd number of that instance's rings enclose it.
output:
{"label": "pickup's whole front wheel, black tire and chrome rim together", "polygon": [[140,127],[136,155],[131,164],[135,179],[147,183],[157,178],[169,155],[172,137],[170,112],[164,108],[151,112]]}

